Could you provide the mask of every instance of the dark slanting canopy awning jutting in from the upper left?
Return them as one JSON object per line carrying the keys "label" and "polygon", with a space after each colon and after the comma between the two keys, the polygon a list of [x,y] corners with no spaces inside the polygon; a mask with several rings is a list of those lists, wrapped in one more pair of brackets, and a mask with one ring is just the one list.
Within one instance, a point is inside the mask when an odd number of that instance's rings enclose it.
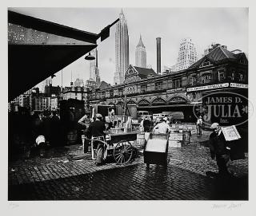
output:
{"label": "dark slanting canopy awning jutting in from the upper left", "polygon": [[97,34],[9,10],[8,100],[96,48],[98,38],[108,37],[115,22]]}

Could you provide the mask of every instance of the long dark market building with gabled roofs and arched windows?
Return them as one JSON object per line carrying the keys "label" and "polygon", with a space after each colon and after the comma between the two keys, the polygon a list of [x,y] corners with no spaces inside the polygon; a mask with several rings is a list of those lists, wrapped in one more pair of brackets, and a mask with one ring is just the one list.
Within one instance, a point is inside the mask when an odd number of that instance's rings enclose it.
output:
{"label": "long dark market building with gabled roofs and arched windows", "polygon": [[157,74],[153,69],[130,65],[124,84],[98,88],[90,104],[109,104],[122,115],[124,104],[152,113],[183,112],[185,122],[194,122],[194,106],[202,106],[206,92],[229,91],[247,96],[248,61],[245,53],[232,53],[219,46],[188,69]]}

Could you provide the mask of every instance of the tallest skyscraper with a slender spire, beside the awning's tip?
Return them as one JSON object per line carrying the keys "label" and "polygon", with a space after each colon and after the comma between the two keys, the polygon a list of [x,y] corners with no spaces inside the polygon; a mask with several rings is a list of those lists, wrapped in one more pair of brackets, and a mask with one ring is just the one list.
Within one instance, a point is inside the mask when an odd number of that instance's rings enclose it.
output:
{"label": "tallest skyscraper with a slender spire, beside the awning's tip", "polygon": [[129,35],[125,15],[121,11],[115,31],[114,84],[122,84],[129,66]]}

